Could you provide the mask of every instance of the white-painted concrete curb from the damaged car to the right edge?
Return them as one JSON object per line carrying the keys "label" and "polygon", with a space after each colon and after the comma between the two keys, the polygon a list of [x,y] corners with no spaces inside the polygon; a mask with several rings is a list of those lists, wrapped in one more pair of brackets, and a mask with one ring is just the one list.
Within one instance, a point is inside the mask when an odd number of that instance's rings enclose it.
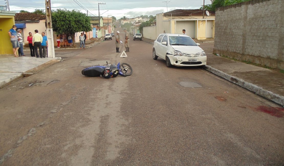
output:
{"label": "white-painted concrete curb from the damaged car to the right edge", "polygon": [[211,66],[208,66],[208,65],[205,65],[203,67],[203,69],[207,70],[207,71],[210,71],[211,73],[221,77],[221,78],[224,78],[225,80],[228,80],[234,84],[237,84],[243,88],[246,88],[247,90],[250,90],[268,100],[271,100],[281,106],[284,106],[284,97],[281,96],[281,95],[278,95],[276,93],[273,93],[271,91],[268,91],[268,90],[265,90],[257,85],[254,85],[252,83],[249,83],[249,82],[246,82],[245,80],[242,80],[238,77],[235,77],[235,76],[231,76],[223,71],[220,71],[218,69],[215,69]]}

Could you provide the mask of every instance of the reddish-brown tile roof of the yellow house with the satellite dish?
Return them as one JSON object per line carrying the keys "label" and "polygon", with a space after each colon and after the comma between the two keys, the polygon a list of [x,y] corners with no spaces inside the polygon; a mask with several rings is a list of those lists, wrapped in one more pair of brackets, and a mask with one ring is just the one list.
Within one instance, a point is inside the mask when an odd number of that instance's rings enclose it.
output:
{"label": "reddish-brown tile roof of the yellow house with the satellite dish", "polygon": [[[215,15],[214,11],[208,11],[208,12],[212,15]],[[191,15],[203,15],[203,10],[202,9],[176,9],[176,10],[172,10],[172,11],[164,13],[164,16],[191,16]]]}

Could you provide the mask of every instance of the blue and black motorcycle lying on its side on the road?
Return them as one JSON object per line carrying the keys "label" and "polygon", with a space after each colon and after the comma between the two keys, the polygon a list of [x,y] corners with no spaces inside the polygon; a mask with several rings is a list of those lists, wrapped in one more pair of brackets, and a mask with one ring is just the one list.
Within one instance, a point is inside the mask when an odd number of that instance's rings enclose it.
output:
{"label": "blue and black motorcycle lying on its side on the road", "polygon": [[101,76],[104,78],[112,78],[118,75],[124,77],[130,76],[132,72],[133,72],[132,67],[128,63],[118,63],[117,65],[115,65],[115,64],[108,64],[106,62],[106,65],[102,66],[94,65],[83,69],[82,75],[88,77]]}

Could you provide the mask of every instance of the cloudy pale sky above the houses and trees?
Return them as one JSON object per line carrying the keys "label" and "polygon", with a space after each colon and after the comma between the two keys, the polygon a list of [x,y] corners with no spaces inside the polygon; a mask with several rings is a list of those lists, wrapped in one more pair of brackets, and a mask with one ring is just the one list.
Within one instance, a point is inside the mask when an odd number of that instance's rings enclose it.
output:
{"label": "cloudy pale sky above the houses and trees", "polygon": [[[141,15],[153,15],[157,13],[167,12],[174,9],[197,9],[203,5],[203,0],[50,0],[51,9],[66,8],[67,10],[80,10],[87,13],[88,16],[98,16],[98,3],[100,4],[100,15],[107,17],[108,15],[119,19],[123,16],[128,18]],[[166,3],[165,1],[168,1]],[[6,5],[6,1],[0,0],[0,5]],[[205,0],[205,4],[210,4],[210,0]],[[19,12],[20,10],[28,10],[33,12],[35,9],[45,10],[44,0],[9,0],[10,11]],[[111,17],[109,16],[109,17]]]}

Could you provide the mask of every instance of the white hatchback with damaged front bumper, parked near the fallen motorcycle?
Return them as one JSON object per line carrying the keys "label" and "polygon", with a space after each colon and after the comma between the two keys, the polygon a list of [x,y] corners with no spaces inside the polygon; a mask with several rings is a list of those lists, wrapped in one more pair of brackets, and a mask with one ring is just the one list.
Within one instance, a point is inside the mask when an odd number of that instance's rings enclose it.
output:
{"label": "white hatchback with damaged front bumper, parked near the fallen motorcycle", "polygon": [[162,33],[154,41],[153,59],[166,60],[167,67],[206,65],[205,52],[187,35]]}

